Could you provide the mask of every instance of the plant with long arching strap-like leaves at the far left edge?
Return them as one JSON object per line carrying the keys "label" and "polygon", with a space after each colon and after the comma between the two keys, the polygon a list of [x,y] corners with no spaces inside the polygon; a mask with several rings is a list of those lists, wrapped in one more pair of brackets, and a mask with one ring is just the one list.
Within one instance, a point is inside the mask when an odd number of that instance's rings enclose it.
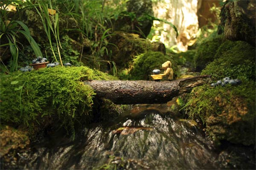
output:
{"label": "plant with long arching strap-like leaves at the far left edge", "polygon": [[19,57],[19,48],[17,45],[18,42],[16,40],[16,37],[18,37],[18,33],[23,34],[23,36],[26,37],[36,56],[42,56],[42,53],[35,40],[31,37],[29,28],[23,22],[18,20],[7,20],[7,8],[12,3],[13,1],[4,1],[4,3],[0,3],[0,39],[3,40],[3,38],[5,37],[8,41],[8,43],[1,44],[0,47],[9,46],[10,52],[12,54],[10,71],[15,71],[18,68],[17,62]]}

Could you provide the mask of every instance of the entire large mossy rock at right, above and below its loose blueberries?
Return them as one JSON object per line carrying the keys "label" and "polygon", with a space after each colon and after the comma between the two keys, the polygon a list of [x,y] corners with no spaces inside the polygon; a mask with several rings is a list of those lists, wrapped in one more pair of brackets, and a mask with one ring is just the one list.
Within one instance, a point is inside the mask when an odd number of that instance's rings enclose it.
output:
{"label": "entire large mossy rock at right, above and below its loose blueberries", "polygon": [[221,140],[255,144],[255,52],[247,42],[224,42],[217,50],[218,59],[201,74],[212,75],[213,81],[241,79],[241,85],[203,85],[193,89],[186,103],[189,116],[204,122],[216,144]]}

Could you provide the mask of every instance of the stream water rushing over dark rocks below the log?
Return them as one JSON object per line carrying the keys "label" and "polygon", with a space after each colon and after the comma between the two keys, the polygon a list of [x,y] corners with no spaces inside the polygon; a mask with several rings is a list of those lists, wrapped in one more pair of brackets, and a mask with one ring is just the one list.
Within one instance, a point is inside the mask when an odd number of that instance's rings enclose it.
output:
{"label": "stream water rushing over dark rocks below the log", "polygon": [[80,134],[76,134],[74,141],[65,139],[61,134],[54,134],[44,139],[43,143],[33,146],[31,153],[23,156],[24,159],[26,157],[26,161],[22,168],[250,169],[255,167],[251,150],[237,149],[240,147],[216,150],[195,122],[183,120],[179,113],[170,112],[169,108],[166,105],[137,105],[115,120],[84,128]]}

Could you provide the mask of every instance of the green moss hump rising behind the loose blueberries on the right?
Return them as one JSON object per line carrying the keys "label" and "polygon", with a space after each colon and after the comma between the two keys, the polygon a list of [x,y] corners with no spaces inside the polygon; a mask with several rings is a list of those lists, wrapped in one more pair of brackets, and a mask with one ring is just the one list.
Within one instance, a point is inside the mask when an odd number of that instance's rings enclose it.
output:
{"label": "green moss hump rising behind the loose blueberries on the right", "polygon": [[202,74],[212,75],[214,80],[223,77],[255,80],[255,48],[243,41],[226,41],[217,50],[214,62],[207,65]]}

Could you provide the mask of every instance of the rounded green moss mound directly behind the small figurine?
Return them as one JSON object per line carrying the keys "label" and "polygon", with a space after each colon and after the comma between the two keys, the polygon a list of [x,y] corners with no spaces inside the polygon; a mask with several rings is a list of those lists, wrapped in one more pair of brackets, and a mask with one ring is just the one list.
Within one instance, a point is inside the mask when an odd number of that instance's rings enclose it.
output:
{"label": "rounded green moss mound directly behind the small figurine", "polygon": [[173,61],[172,57],[163,55],[163,53],[160,52],[149,51],[134,59],[133,68],[129,73],[130,79],[149,80],[151,79],[150,75],[152,70],[162,68],[162,64],[168,60],[172,62],[174,77],[177,77],[177,64]]}

